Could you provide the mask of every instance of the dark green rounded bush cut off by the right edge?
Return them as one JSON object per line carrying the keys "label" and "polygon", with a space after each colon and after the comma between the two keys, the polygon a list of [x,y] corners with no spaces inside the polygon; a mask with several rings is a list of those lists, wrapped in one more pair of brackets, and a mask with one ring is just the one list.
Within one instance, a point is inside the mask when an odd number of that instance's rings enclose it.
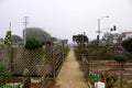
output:
{"label": "dark green rounded bush cut off by the right edge", "polygon": [[130,53],[132,53],[132,38],[124,40],[121,45]]}

